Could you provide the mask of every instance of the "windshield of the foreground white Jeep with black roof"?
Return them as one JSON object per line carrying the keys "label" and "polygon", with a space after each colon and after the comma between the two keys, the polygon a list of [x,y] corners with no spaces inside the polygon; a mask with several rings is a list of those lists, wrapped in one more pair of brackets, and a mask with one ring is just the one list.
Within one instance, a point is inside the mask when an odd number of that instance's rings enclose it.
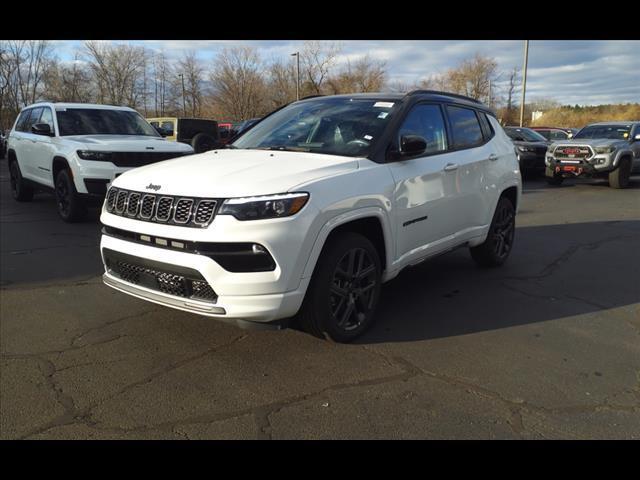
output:
{"label": "windshield of the foreground white Jeep with black roof", "polygon": [[233,147],[366,156],[393,107],[393,102],[348,97],[294,103],[265,118]]}

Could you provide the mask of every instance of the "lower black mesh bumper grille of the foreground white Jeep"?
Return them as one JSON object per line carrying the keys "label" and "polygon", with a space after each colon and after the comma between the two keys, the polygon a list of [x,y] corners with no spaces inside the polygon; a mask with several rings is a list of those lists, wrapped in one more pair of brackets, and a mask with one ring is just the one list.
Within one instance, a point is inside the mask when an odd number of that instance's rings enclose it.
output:
{"label": "lower black mesh bumper grille of the foreground white Jeep", "polygon": [[198,273],[184,267],[154,262],[108,248],[102,251],[109,273],[134,285],[167,295],[215,303],[218,295]]}

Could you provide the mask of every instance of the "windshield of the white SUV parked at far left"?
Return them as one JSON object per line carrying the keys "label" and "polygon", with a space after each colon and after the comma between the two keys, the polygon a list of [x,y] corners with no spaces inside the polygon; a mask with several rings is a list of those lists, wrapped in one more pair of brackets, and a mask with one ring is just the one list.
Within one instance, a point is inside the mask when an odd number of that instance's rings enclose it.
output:
{"label": "windshield of the white SUV parked at far left", "polygon": [[56,110],[61,136],[67,135],[144,135],[160,134],[137,112],[101,108]]}

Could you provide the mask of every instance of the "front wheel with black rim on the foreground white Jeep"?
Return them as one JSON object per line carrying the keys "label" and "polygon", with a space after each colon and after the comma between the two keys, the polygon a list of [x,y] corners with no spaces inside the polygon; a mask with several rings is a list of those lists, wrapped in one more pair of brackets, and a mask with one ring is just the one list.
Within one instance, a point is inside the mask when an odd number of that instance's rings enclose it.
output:
{"label": "front wheel with black rim on the foreground white Jeep", "polygon": [[302,329],[348,343],[374,321],[382,268],[373,244],[360,234],[333,237],[318,259],[297,320]]}

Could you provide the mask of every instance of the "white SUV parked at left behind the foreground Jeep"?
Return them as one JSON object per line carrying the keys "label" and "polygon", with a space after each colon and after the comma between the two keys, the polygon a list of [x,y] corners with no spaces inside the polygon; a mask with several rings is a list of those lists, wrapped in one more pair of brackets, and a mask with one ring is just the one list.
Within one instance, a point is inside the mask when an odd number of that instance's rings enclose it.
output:
{"label": "white SUV parked at left behind the foreground Jeep", "polygon": [[22,110],[9,134],[11,192],[26,202],[36,189],[54,190],[58,213],[75,222],[122,172],[191,153],[128,107],[36,103]]}

